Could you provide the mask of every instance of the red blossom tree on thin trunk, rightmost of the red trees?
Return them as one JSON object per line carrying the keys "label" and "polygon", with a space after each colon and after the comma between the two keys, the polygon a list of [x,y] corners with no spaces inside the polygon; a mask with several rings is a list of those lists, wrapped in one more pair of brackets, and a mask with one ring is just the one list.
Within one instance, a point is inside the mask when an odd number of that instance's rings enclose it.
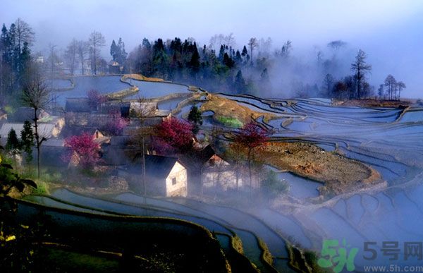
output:
{"label": "red blossom tree on thin trunk, rightmost of the red trees", "polygon": [[252,174],[251,174],[251,162],[252,162],[252,150],[255,147],[262,146],[266,141],[269,140],[270,131],[260,127],[257,123],[247,123],[243,128],[240,129],[238,135],[235,137],[235,145],[244,147],[248,150],[247,161],[248,161],[248,172],[250,175],[250,188],[252,189]]}

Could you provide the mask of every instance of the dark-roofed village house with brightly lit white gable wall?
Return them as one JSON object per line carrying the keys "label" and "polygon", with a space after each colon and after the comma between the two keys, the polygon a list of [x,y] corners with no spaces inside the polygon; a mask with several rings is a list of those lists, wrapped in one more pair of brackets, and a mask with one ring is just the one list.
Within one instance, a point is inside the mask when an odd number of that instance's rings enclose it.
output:
{"label": "dark-roofed village house with brightly lit white gable wall", "polygon": [[[119,167],[118,176],[125,178],[133,187],[142,188],[141,160]],[[187,170],[176,157],[146,154],[145,176],[147,195],[187,196]]]}

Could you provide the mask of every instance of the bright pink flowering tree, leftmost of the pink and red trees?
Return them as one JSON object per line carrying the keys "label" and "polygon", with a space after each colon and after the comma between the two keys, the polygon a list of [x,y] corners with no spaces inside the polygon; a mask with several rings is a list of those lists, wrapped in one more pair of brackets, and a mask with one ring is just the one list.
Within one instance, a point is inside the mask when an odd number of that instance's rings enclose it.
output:
{"label": "bright pink flowering tree, leftmost of the pink and red trees", "polygon": [[100,145],[90,133],[85,132],[66,138],[65,147],[70,148],[63,158],[66,162],[75,161],[74,163],[80,164],[82,168],[89,169],[100,161]]}

